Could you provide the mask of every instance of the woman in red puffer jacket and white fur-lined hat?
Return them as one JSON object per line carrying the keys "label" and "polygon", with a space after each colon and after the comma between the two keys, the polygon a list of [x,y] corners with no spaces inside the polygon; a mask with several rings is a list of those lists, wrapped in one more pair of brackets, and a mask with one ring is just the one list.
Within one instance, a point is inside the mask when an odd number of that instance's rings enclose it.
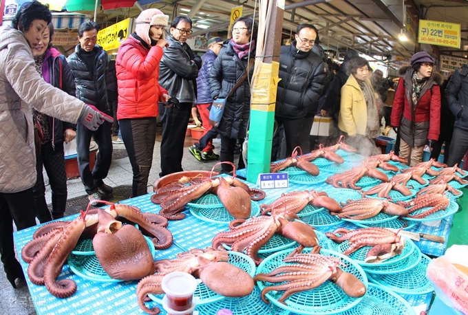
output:
{"label": "woman in red puffer jacket and white fur-lined hat", "polygon": [[167,44],[164,26],[168,20],[169,16],[158,9],[142,11],[136,19],[135,33],[118,48],[117,119],[134,172],[133,197],[148,193],[158,102],[170,98],[158,83],[162,47]]}

